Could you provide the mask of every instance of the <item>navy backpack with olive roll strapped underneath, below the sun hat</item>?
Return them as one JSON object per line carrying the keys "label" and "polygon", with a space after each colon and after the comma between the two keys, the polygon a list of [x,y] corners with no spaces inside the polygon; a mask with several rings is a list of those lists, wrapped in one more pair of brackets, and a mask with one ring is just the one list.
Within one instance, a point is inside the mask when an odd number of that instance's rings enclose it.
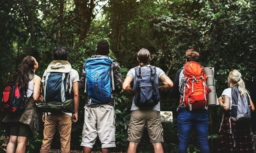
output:
{"label": "navy backpack with olive roll strapped underneath, below the sun hat", "polygon": [[40,102],[37,112],[69,112],[74,113],[74,102],[69,92],[70,74],[63,72],[47,72],[41,80],[44,83],[44,101]]}

